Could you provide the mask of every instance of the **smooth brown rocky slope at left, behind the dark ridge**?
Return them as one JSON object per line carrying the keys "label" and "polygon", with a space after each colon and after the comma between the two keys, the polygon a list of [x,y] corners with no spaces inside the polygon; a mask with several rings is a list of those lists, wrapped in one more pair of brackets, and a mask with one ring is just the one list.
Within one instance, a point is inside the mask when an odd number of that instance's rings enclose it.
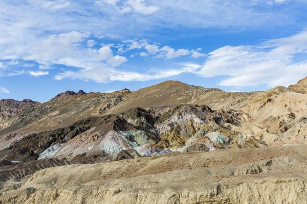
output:
{"label": "smooth brown rocky slope at left, behind the dark ridge", "polygon": [[[66,92],[65,92],[66,93]],[[0,135],[15,131],[49,131],[66,127],[93,116],[101,116],[119,104],[130,93],[123,89],[113,93],[59,94],[47,103],[25,110],[0,122]],[[67,91],[71,93],[71,91]],[[67,97],[68,96],[68,97]],[[59,99],[63,97],[63,99]]]}

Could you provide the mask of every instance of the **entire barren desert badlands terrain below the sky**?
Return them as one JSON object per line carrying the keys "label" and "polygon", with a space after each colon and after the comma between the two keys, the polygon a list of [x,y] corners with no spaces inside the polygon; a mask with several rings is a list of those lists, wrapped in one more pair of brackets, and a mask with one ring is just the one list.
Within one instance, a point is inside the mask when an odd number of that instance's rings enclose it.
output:
{"label": "entire barren desert badlands terrain below the sky", "polygon": [[0,100],[0,203],[306,203],[307,78]]}

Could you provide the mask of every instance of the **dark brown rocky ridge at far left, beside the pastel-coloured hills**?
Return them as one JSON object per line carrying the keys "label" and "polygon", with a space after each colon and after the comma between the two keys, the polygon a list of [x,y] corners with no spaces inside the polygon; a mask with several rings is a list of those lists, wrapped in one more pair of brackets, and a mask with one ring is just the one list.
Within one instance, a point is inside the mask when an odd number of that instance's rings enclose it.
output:
{"label": "dark brown rocky ridge at far left, beside the pastel-coloured hills", "polygon": [[98,126],[105,117],[87,118],[70,126],[47,132],[11,133],[1,138],[0,158],[13,161],[28,162],[36,160],[43,151],[52,145],[65,143],[83,133],[92,126]]}

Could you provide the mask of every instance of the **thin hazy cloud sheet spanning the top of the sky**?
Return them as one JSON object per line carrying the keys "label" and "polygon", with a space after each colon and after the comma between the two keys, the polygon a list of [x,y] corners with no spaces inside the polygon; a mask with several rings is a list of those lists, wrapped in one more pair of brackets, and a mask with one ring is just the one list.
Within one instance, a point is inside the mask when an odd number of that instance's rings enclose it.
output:
{"label": "thin hazy cloud sheet spanning the top of the sky", "polygon": [[[147,0],[146,3],[142,0],[105,0],[96,1],[95,5],[93,1],[1,1],[1,13],[6,18],[0,20],[2,28],[0,44],[12,41],[14,44],[31,43],[37,37],[46,36],[49,33],[58,34],[74,30],[81,33],[89,31],[95,36],[108,36],[107,34],[111,33],[127,37],[131,34],[140,36],[138,34],[144,34],[144,31],[176,29],[178,26],[183,28],[231,27],[234,31],[237,28],[240,31],[269,28],[270,25],[296,24],[299,27],[303,24],[304,26],[304,21],[299,21],[301,18],[299,11],[305,11],[306,8],[304,2],[288,2],[291,9],[272,10],[266,6],[267,1],[264,0],[252,1],[252,3],[230,0],[227,1],[228,4],[220,0]],[[261,9],[255,9],[255,5]],[[118,12],[121,10],[122,12]],[[151,13],[151,15],[146,16],[143,13]],[[10,45],[12,46],[12,43]]]}

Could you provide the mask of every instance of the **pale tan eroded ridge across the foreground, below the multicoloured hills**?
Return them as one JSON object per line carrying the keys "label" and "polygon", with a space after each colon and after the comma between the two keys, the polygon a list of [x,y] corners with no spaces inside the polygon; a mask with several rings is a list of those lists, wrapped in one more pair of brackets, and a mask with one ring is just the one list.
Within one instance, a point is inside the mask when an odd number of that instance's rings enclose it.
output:
{"label": "pale tan eroded ridge across the foreground, below the multicoloured hills", "polygon": [[295,145],[53,167],[10,180],[0,203],[304,203],[305,157]]}

